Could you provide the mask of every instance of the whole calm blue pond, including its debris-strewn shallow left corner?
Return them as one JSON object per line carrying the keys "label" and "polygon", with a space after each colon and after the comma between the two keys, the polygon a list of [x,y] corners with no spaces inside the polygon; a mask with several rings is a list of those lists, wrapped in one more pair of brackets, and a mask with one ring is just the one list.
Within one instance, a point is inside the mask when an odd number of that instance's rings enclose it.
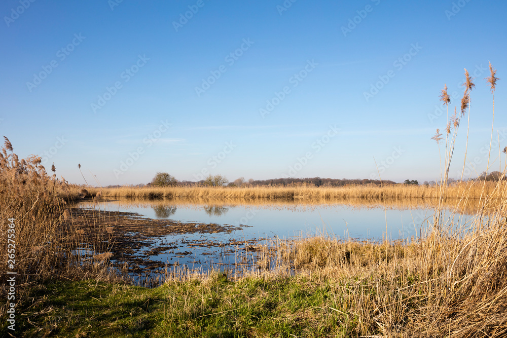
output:
{"label": "whole calm blue pond, including its debris-strewn shallow left corner", "polygon": [[[203,271],[217,266],[243,267],[248,247],[273,238],[319,234],[372,241],[417,238],[421,233],[424,235],[434,213],[427,202],[419,199],[388,204],[365,200],[254,203],[122,199],[80,202],[77,207],[105,213],[130,213],[128,216],[135,215],[137,223],[142,219],[152,223],[157,220],[156,227],[165,227],[166,232],[152,231],[152,236],[142,238],[134,236],[135,227],[123,232],[124,236],[131,236],[131,241],[142,242],[133,255],[128,256],[130,260],[135,257],[141,269],[150,271],[171,266]],[[456,213],[454,218],[454,223],[464,224],[468,220],[467,212]],[[148,225],[142,227],[154,229]],[[119,255],[116,259],[121,260]]]}

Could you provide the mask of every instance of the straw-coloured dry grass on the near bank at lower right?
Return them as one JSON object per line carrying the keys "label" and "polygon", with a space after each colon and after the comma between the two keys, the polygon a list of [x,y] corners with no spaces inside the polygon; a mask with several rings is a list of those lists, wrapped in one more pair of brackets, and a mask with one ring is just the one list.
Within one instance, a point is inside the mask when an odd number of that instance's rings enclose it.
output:
{"label": "straw-coloured dry grass on the near bank at lower right", "polygon": [[[272,241],[264,275],[307,276],[333,287],[334,303],[359,318],[358,335],[507,335],[507,184],[481,202],[467,231],[444,224],[412,242],[339,241],[328,235]],[[344,315],[342,325],[346,324]]]}

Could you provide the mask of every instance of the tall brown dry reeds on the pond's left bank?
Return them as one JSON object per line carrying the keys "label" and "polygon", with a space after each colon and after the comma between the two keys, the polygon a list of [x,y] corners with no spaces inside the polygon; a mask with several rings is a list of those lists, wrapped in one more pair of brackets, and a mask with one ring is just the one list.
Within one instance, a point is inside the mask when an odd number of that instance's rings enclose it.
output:
{"label": "tall brown dry reeds on the pond's left bank", "polygon": [[[52,166],[52,170],[54,172],[56,168]],[[40,157],[20,160],[13,152],[11,142],[5,138],[5,145],[0,149],[0,217],[3,220],[0,238],[5,243],[0,246],[4,267],[0,278],[4,283],[7,271],[17,273],[16,303],[28,286],[49,279],[83,276],[107,279],[110,276],[106,266],[85,262],[83,257],[75,254],[84,241],[66,208],[69,200],[78,197],[78,189],[63,178],[57,179],[54,173],[49,176]],[[7,221],[12,218],[13,229]],[[100,242],[91,245],[97,252],[103,246]],[[8,267],[12,262],[8,261],[11,259],[9,255],[13,257],[14,268]],[[6,296],[4,299],[7,299],[6,290],[3,287],[1,291],[2,296]]]}

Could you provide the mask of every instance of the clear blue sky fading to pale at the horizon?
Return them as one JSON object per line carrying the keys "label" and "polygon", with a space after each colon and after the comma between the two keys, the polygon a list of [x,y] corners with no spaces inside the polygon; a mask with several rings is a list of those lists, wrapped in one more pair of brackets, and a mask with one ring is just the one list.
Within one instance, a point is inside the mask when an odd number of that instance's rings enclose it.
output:
{"label": "clear blue sky fading to pale at the horizon", "polygon": [[[1,135],[69,182],[84,183],[78,163],[102,185],[157,171],[372,178],[374,158],[382,179],[438,179],[435,110],[444,83],[459,110],[463,68],[477,86],[475,176],[491,133],[488,61],[502,79],[494,138],[507,145],[504,1],[4,0],[0,14]],[[455,178],[464,120],[458,135]]]}

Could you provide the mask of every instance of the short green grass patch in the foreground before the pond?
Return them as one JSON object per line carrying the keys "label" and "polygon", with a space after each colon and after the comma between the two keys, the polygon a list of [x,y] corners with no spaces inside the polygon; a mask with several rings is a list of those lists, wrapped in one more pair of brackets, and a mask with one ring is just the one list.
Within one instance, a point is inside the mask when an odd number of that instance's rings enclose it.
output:
{"label": "short green grass patch in the foreground before the pond", "polygon": [[[332,285],[219,274],[148,289],[95,282],[34,288],[16,334],[51,337],[350,336],[358,323]],[[333,309],[340,310],[335,311]],[[355,334],[354,334],[355,335]]]}

